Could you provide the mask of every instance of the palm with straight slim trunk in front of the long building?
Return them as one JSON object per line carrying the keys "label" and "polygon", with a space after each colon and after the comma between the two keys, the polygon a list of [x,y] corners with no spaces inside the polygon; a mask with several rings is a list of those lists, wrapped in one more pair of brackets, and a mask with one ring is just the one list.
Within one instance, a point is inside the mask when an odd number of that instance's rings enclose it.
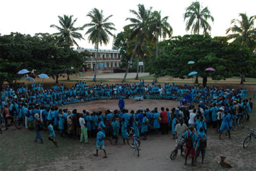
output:
{"label": "palm with straight slim trunk in front of the long building", "polygon": [[89,34],[89,42],[91,41],[92,44],[97,47],[94,68],[94,77],[96,78],[99,44],[100,46],[102,45],[102,42],[104,45],[108,44],[110,40],[108,34],[114,36],[110,31],[116,29],[114,28],[115,25],[113,23],[107,23],[109,18],[113,15],[104,18],[102,10],[99,11],[97,8],[94,8],[87,14],[87,16],[92,19],[91,23],[85,24],[83,27],[90,27],[86,34]]}

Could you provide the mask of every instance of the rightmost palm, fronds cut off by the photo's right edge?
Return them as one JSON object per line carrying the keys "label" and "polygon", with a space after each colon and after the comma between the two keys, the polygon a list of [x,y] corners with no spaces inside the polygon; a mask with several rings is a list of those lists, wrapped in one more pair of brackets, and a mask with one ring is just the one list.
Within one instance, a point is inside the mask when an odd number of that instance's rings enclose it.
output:
{"label": "rightmost palm, fronds cut off by the photo's right edge", "polygon": [[[250,48],[251,52],[256,49],[256,29],[254,28],[254,19],[256,19],[256,15],[248,16],[246,13],[240,13],[239,16],[242,17],[242,20],[232,19],[230,27],[226,30],[226,34],[230,31],[233,34],[227,35],[228,39],[234,39],[234,42],[241,42],[245,44],[248,48]],[[242,74],[241,84],[245,81],[245,75]]]}

